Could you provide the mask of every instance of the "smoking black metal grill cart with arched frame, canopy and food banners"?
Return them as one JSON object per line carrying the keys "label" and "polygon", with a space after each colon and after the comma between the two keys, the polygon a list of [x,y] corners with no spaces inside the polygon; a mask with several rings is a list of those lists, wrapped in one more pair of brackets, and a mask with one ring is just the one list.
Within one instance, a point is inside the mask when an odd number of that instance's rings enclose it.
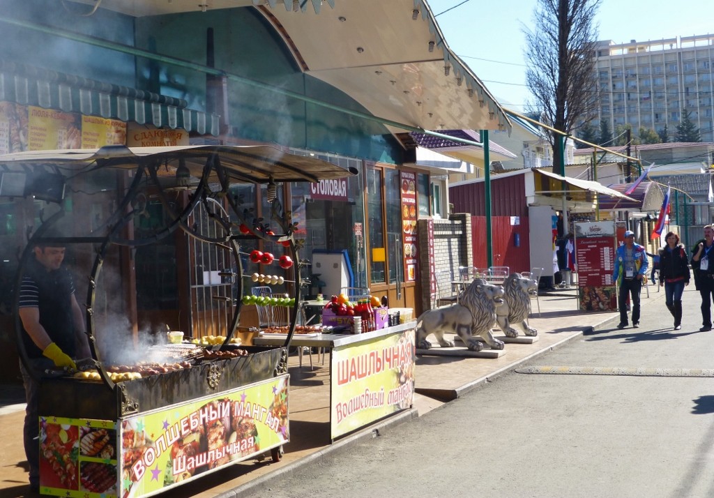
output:
{"label": "smoking black metal grill cart with arched frame, canopy and food banners", "polygon": [[[356,171],[272,146],[23,152],[1,156],[0,166],[26,184],[24,199],[18,200],[27,211],[24,219],[41,221],[28,230],[32,235],[16,289],[37,243],[66,246],[76,256],[72,266],[80,274],[87,269],[84,280],[75,280],[78,292],[86,288],[91,359],[76,371],[33,371],[41,382],[41,492],[138,498],[263,454],[279,459],[290,437],[287,357],[301,301],[302,263],[301,241],[293,236],[297,224],[283,211],[277,184]],[[243,209],[241,196],[232,190],[236,184],[267,186],[271,213],[266,218],[273,228]],[[145,223],[156,206],[162,210],[159,221]],[[168,344],[165,329],[154,324],[147,330],[133,318],[136,277],[142,271],[134,267],[134,257],[141,248],[182,233],[201,252],[177,250],[169,258],[174,269],[184,265],[184,274],[191,275],[186,287],[192,290],[179,290],[177,302],[178,313],[184,312],[178,323],[188,324],[192,340]],[[257,240],[284,246],[281,250],[296,262],[273,265],[265,281],[280,282],[281,290],[294,296],[281,303],[288,305],[289,326],[278,346],[243,346],[234,340],[248,294],[243,282],[250,281],[245,277],[252,271],[244,269],[244,246]],[[201,268],[206,261],[209,267]],[[166,287],[177,284],[169,279]],[[30,369],[23,333],[18,318],[20,355]]]}

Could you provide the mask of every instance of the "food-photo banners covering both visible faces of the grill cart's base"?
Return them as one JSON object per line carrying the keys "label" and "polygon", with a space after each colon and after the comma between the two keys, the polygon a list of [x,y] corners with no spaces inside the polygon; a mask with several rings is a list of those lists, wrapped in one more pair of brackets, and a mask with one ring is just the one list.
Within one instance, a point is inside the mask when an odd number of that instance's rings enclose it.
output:
{"label": "food-photo banners covering both visible faces of the grill cart's base", "polygon": [[42,494],[139,498],[289,441],[288,375],[108,421],[40,418]]}

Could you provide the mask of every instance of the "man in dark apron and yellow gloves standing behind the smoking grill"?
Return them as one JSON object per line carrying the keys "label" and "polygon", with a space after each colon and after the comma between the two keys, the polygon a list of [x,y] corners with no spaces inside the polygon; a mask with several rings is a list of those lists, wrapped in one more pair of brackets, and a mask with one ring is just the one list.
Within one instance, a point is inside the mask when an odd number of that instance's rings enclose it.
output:
{"label": "man in dark apron and yellow gloves standing behind the smoking grill", "polygon": [[[19,316],[23,343],[35,378],[51,367],[76,369],[73,358],[91,356],[84,314],[74,297],[74,282],[62,267],[65,248],[59,243],[34,247],[20,286]],[[25,387],[24,445],[30,488],[39,490],[39,382],[20,362]]]}

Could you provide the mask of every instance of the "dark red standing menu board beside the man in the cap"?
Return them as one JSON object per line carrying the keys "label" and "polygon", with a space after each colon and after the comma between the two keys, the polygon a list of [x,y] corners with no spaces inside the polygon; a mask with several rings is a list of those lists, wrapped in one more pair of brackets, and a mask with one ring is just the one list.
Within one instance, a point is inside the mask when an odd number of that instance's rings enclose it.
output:
{"label": "dark red standing menu board beside the man in the cap", "polygon": [[578,264],[580,309],[590,312],[616,311],[613,221],[575,223],[575,258]]}

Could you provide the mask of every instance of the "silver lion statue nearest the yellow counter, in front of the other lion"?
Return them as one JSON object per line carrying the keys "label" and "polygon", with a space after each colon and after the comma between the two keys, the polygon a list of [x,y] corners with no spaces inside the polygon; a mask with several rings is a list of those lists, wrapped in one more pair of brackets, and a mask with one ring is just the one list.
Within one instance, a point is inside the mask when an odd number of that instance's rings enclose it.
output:
{"label": "silver lion statue nearest the yellow counter, in front of the other lion", "polygon": [[[474,280],[459,296],[458,304],[423,312],[416,322],[416,347],[431,348],[426,340],[434,334],[441,347],[453,347],[444,339],[445,333],[457,334],[471,351],[481,351],[483,342],[491,349],[503,349],[503,342],[495,339],[491,329],[496,324],[496,309],[503,304],[503,288]],[[481,338],[481,340],[477,338]]]}

